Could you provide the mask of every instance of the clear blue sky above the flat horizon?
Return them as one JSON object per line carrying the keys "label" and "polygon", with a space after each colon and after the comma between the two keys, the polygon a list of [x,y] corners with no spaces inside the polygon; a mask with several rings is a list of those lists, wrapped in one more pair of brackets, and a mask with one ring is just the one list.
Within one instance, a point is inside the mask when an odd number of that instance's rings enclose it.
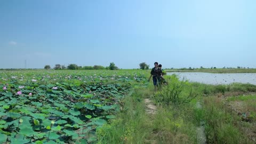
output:
{"label": "clear blue sky above the flat horizon", "polygon": [[0,1],[0,68],[256,68],[255,0]]}

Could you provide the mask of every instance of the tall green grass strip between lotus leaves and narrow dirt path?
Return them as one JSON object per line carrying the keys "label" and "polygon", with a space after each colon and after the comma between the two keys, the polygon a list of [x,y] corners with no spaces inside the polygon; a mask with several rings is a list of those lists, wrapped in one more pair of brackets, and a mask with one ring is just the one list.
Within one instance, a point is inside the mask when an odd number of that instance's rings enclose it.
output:
{"label": "tall green grass strip between lotus leaves and narrow dirt path", "polygon": [[126,97],[123,110],[97,131],[98,143],[143,143],[152,131],[151,120],[145,112],[142,90]]}

